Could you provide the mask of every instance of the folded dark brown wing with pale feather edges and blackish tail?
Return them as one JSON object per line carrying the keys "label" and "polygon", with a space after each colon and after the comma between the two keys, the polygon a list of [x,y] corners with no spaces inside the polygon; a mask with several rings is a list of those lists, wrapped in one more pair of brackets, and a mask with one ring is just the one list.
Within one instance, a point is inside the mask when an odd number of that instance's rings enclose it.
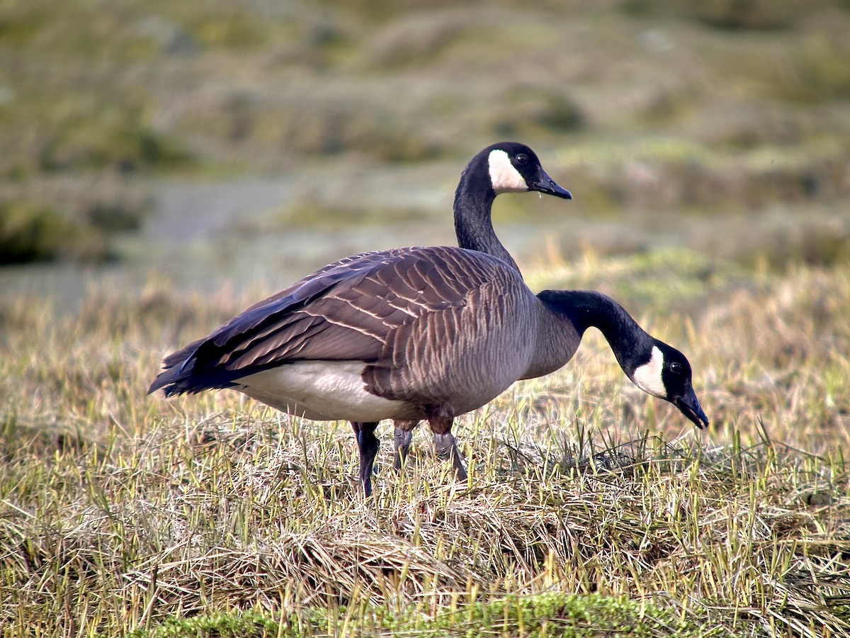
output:
{"label": "folded dark brown wing with pale feather edges and blackish tail", "polygon": [[[167,356],[167,370],[150,391],[227,387],[241,376],[294,361],[377,362],[388,356],[388,344],[415,338],[420,317],[462,307],[502,268],[498,259],[446,247],[342,259]],[[396,333],[403,327],[401,337]]]}

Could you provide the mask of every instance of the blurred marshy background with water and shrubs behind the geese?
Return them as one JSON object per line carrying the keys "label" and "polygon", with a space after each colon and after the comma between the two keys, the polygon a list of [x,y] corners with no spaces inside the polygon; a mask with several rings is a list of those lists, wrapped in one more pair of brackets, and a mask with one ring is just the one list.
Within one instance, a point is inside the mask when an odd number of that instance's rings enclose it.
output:
{"label": "blurred marshy background with water and shrubs behind the geese", "polygon": [[0,289],[454,243],[499,140],[575,196],[496,200],[524,269],[850,263],[850,1],[0,0]]}

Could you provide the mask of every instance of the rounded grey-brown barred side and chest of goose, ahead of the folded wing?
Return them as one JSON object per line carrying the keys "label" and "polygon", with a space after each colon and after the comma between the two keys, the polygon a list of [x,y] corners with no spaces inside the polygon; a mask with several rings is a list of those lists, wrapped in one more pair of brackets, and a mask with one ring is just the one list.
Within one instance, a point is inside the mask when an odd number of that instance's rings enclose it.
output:
{"label": "rounded grey-brown barred side and chest of goose, ahead of the folded wing", "polygon": [[422,313],[388,334],[364,379],[378,396],[423,404],[451,398],[465,411],[519,378],[534,348],[536,325],[528,319],[536,316],[536,298],[498,259],[468,251],[442,257],[439,282],[428,289],[456,291],[463,303]]}

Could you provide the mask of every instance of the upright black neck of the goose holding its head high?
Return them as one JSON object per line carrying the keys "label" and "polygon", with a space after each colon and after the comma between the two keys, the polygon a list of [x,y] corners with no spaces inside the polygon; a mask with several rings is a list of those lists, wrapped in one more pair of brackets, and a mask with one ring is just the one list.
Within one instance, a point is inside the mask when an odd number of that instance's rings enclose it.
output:
{"label": "upright black neck of the goose holding its head high", "polygon": [[[473,170],[472,164],[467,166],[455,191],[457,245],[498,257],[519,272],[519,266],[507,252],[507,248],[501,245],[496,231],[493,230],[490,214],[496,192],[493,191],[489,178],[473,179],[471,176],[475,174],[479,172]],[[489,175],[486,171],[481,174]]]}

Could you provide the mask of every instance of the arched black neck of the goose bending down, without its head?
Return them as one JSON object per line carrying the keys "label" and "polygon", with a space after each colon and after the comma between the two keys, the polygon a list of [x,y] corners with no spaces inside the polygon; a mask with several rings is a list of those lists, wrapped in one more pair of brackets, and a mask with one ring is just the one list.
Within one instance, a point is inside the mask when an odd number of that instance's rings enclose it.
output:
{"label": "arched black neck of the goose bending down, without its head", "polygon": [[603,333],[630,378],[649,361],[655,339],[614,299],[591,290],[544,290],[537,297],[556,315],[564,316],[580,336],[587,328]]}

